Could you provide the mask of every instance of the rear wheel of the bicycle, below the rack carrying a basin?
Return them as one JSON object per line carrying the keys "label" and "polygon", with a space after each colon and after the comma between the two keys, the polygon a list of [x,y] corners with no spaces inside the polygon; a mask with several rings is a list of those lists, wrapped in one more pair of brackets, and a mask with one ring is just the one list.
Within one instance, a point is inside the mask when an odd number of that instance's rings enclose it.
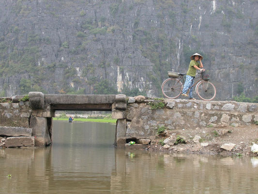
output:
{"label": "rear wheel of the bicycle, below the rack carrying a basin", "polygon": [[182,83],[178,79],[168,78],[162,83],[161,90],[167,98],[177,98],[182,93]]}

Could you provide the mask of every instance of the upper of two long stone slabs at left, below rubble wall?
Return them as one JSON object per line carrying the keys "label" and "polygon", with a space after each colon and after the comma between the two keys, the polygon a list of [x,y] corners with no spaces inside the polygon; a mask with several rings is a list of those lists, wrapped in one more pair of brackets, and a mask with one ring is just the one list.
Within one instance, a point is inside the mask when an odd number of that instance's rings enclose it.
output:
{"label": "upper of two long stone slabs at left, below rubble wall", "polygon": [[0,127],[0,136],[31,136],[32,129],[20,127]]}

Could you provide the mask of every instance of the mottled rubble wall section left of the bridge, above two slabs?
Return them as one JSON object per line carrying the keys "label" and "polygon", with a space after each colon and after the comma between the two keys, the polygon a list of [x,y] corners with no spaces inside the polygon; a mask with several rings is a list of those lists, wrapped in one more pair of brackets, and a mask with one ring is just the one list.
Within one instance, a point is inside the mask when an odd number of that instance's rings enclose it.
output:
{"label": "mottled rubble wall section left of the bridge, above two slabs", "polygon": [[0,103],[0,126],[29,128],[30,113],[29,101]]}

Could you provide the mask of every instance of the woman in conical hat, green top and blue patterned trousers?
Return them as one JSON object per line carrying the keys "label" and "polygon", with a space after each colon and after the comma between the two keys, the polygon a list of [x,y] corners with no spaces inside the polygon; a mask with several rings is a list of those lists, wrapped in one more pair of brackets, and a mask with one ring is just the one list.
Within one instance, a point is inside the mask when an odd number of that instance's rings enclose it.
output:
{"label": "woman in conical hat, green top and blue patterned trousers", "polygon": [[[195,79],[195,74],[196,74],[196,69],[198,70],[202,70],[205,71],[205,69],[203,69],[203,65],[201,63],[201,60],[203,59],[203,57],[198,54],[198,53],[195,53],[193,54],[191,57],[191,62],[190,62],[190,65],[189,65],[189,68],[188,68],[188,71],[186,73],[186,80],[184,82],[184,85],[183,85],[183,91],[182,91],[182,96],[185,96],[185,97],[188,97],[188,95],[186,94],[186,92],[188,91],[188,89],[194,85],[194,79]],[[200,61],[200,63],[197,63],[197,61]],[[190,92],[189,92],[189,98],[191,100],[196,100],[194,97],[193,97],[193,87],[190,88]]]}

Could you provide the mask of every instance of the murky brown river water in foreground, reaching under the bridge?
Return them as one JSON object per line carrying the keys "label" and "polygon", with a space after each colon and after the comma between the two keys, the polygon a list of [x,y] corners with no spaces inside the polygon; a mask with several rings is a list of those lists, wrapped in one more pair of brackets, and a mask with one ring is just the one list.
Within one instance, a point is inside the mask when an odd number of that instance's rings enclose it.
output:
{"label": "murky brown river water in foreground, reaching under the bridge", "polygon": [[112,124],[54,121],[52,146],[0,149],[0,193],[258,193],[258,158],[117,149],[114,139]]}

